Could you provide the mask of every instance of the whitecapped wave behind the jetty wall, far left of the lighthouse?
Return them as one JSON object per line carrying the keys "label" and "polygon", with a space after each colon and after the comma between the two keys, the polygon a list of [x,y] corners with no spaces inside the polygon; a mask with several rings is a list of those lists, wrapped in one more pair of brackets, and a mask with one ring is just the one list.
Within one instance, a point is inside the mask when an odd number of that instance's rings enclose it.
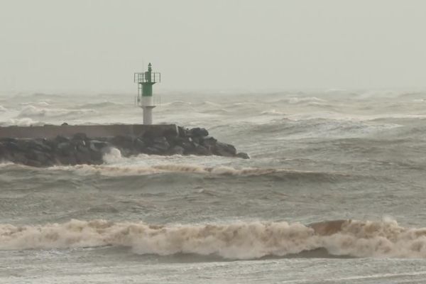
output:
{"label": "whitecapped wave behind the jetty wall, far left of the lighthouse", "polygon": [[19,112],[18,117],[57,117],[57,116],[82,116],[87,114],[97,114],[94,109],[45,109],[28,105],[23,107]]}

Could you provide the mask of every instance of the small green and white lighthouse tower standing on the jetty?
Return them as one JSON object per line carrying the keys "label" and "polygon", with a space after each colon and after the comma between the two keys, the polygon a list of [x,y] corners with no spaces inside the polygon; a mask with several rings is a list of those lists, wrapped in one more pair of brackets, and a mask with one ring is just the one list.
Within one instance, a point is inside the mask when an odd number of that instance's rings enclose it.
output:
{"label": "small green and white lighthouse tower standing on the jetty", "polygon": [[143,109],[143,124],[153,124],[153,84],[161,82],[161,74],[153,72],[151,63],[148,64],[148,71],[134,73],[134,81],[138,83],[138,97],[136,104]]}

